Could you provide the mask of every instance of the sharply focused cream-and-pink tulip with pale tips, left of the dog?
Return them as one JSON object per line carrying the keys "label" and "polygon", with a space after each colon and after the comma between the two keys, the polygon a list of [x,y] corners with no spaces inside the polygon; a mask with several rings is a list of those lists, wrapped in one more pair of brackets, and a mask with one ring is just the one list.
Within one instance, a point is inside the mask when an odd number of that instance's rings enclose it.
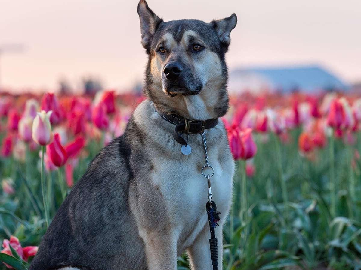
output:
{"label": "sharply focused cream-and-pink tulip with pale tips, left of the dog", "polygon": [[41,111],[35,116],[32,123],[32,139],[40,145],[47,145],[52,139],[50,116],[52,111]]}

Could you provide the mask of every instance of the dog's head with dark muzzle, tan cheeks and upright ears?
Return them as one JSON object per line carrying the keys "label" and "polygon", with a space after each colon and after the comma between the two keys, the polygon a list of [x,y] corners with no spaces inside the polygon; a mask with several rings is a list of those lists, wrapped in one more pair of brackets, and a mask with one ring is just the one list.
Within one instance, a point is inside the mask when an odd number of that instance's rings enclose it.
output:
{"label": "dog's head with dark muzzle, tan cheeks and upright ears", "polygon": [[149,56],[145,95],[162,111],[214,118],[228,109],[225,53],[237,17],[164,22],[141,0],[142,45]]}

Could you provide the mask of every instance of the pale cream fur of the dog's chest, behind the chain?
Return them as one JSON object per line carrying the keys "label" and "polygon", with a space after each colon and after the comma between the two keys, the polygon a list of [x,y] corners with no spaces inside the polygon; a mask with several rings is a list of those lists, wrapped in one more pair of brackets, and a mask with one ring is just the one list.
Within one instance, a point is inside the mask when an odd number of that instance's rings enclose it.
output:
{"label": "pale cream fur of the dog's chest, behind the chain", "polygon": [[[169,216],[175,233],[179,235],[179,250],[190,246],[199,232],[208,226],[205,210],[208,183],[201,173],[201,168],[205,165],[204,148],[200,135],[192,135],[189,142],[191,154],[183,155],[181,145],[176,145],[175,149],[171,149],[173,158],[169,159],[168,155],[157,157],[157,165],[151,174],[153,183],[160,187],[165,199],[168,209],[165,214]],[[208,146],[209,164],[214,168],[214,175],[210,178],[213,201],[221,212],[222,223],[230,207],[234,170],[225,142],[221,140]],[[205,174],[211,172],[205,170]]]}

